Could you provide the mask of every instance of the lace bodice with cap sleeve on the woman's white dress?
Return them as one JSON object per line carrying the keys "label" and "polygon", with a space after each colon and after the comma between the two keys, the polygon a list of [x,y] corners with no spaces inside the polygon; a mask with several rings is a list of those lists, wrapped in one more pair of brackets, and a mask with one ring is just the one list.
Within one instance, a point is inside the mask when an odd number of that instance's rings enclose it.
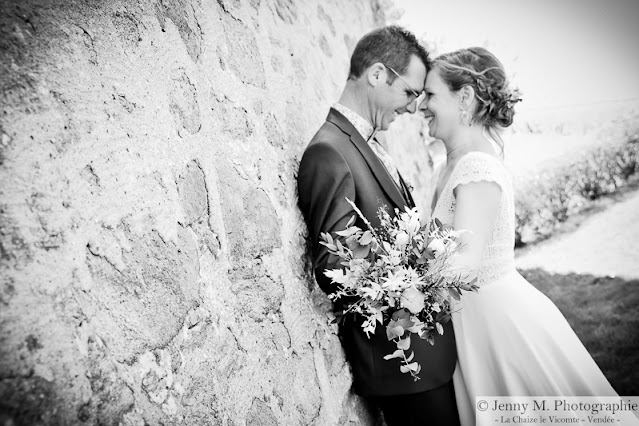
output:
{"label": "lace bodice with cap sleeve on the woman's white dress", "polygon": [[471,182],[495,182],[501,188],[501,203],[488,245],[484,247],[477,268],[478,284],[498,279],[515,268],[515,204],[512,178],[503,162],[483,152],[471,152],[459,159],[448,182],[442,188],[433,217],[453,224],[455,217],[454,189]]}

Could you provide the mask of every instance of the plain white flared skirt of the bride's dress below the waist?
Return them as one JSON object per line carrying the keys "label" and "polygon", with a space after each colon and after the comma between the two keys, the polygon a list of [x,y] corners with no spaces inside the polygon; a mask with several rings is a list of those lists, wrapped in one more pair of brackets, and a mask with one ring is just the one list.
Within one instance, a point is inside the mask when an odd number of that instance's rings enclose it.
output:
{"label": "plain white flared skirt of the bride's dress below the waist", "polygon": [[555,304],[516,270],[454,309],[463,426],[475,426],[477,396],[617,396]]}

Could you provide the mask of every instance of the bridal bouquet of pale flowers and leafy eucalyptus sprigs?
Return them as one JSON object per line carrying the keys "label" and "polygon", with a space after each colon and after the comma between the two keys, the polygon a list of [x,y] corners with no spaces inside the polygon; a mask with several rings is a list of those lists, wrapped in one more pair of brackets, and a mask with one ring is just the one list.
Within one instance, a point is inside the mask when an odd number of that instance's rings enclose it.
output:
{"label": "bridal bouquet of pale flowers and leafy eucalyptus sprigs", "polygon": [[442,324],[450,321],[451,298],[459,300],[462,291],[478,289],[476,279],[452,265],[463,231],[445,227],[438,219],[422,225],[417,208],[396,210],[395,217],[381,208],[381,227],[374,229],[347,201],[368,229],[353,226],[353,216],[346,229],[337,232],[341,239],[321,234],[320,243],[344,266],[324,272],[338,288],[329,297],[353,297],[355,302],[343,314],[361,315],[369,338],[378,323],[385,324],[386,336],[397,350],[384,359],[399,358],[401,372],[418,380],[421,366],[413,361],[413,352],[407,353],[411,334],[434,344],[435,333],[443,334]]}

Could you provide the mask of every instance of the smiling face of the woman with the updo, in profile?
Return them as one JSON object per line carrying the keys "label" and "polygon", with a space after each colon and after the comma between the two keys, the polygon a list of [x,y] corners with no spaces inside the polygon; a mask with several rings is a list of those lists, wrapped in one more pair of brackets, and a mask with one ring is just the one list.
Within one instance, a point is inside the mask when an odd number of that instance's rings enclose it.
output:
{"label": "smiling face of the woman with the updo, in profile", "polygon": [[428,134],[446,141],[459,126],[460,98],[442,80],[434,69],[426,77],[426,98],[419,110],[428,120]]}

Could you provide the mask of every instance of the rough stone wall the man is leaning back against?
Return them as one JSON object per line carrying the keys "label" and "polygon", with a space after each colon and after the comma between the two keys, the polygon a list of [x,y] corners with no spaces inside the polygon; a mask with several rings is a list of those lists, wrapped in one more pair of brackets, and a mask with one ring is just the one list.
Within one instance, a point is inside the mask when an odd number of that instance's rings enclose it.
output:
{"label": "rough stone wall the man is leaning back against", "polygon": [[295,174],[379,24],[375,0],[0,3],[1,424],[376,422]]}

